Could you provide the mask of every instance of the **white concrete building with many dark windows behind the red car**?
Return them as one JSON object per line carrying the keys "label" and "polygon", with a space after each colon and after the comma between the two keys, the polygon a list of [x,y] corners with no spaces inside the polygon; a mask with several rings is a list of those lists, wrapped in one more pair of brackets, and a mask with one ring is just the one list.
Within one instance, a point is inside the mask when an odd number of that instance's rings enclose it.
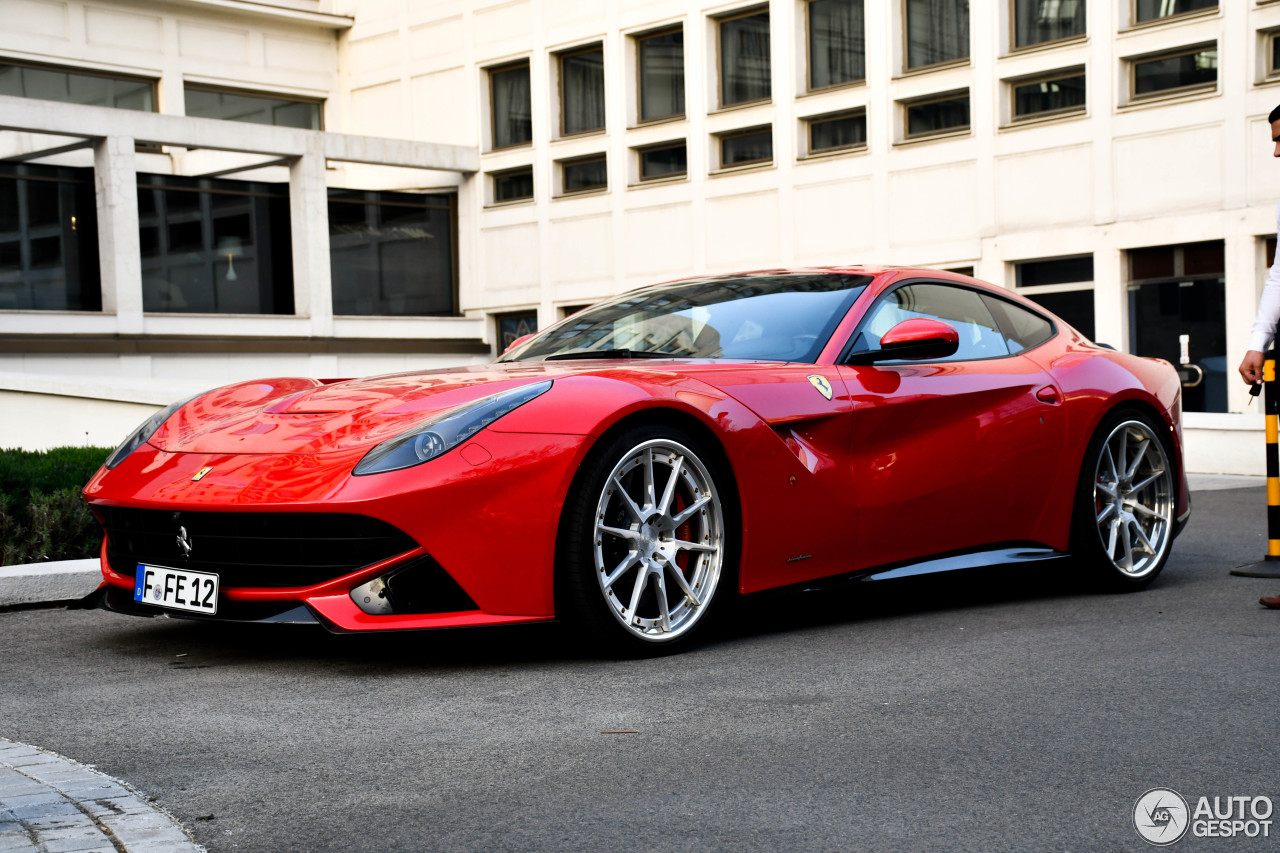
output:
{"label": "white concrete building with many dark windows behind the red car", "polygon": [[1192,469],[1262,471],[1234,365],[1275,0],[0,10],[0,444],[76,439],[88,397],[132,421],[102,400],[485,360],[639,284],[865,261],[1185,355]]}

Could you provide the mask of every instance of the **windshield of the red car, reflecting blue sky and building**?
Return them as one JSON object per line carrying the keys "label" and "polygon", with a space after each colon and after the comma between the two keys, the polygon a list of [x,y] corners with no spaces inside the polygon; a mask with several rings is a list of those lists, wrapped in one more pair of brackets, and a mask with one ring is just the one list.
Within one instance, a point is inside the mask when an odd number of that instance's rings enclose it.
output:
{"label": "windshield of the red car, reflecting blue sky and building", "polygon": [[768,273],[646,287],[579,311],[500,361],[817,360],[870,275]]}

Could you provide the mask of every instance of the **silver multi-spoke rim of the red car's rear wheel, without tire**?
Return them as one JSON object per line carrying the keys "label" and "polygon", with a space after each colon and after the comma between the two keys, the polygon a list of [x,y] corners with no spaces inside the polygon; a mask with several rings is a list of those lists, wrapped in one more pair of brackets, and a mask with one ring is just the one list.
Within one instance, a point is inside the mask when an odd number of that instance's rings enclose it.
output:
{"label": "silver multi-spoke rim of the red car's rear wheel, without tire", "polygon": [[1128,578],[1156,571],[1174,529],[1172,466],[1151,426],[1117,424],[1093,474],[1098,537],[1111,565]]}

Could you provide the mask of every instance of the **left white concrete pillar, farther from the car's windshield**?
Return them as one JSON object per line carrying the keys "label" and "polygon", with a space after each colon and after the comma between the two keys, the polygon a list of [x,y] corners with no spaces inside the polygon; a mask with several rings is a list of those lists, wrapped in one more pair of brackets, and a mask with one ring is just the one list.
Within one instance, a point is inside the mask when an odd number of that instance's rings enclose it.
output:
{"label": "left white concrete pillar, farther from the car's windshield", "polygon": [[102,310],[115,314],[119,334],[142,333],[138,173],[133,147],[133,138],[127,136],[108,136],[93,142]]}

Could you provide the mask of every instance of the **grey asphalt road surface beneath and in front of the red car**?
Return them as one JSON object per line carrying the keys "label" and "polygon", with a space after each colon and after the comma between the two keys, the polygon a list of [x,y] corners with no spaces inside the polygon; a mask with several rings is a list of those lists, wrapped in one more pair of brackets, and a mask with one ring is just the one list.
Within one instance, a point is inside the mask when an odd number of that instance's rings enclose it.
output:
{"label": "grey asphalt road surface beneath and in front of the red car", "polygon": [[[210,850],[1146,850],[1143,792],[1267,795],[1262,489],[1164,575],[975,571],[749,602],[648,661],[554,626],[396,637],[0,613],[0,735],[122,777]],[[993,507],[998,511],[998,507]],[[909,528],[904,528],[909,535]],[[635,734],[605,734],[635,731]]]}

